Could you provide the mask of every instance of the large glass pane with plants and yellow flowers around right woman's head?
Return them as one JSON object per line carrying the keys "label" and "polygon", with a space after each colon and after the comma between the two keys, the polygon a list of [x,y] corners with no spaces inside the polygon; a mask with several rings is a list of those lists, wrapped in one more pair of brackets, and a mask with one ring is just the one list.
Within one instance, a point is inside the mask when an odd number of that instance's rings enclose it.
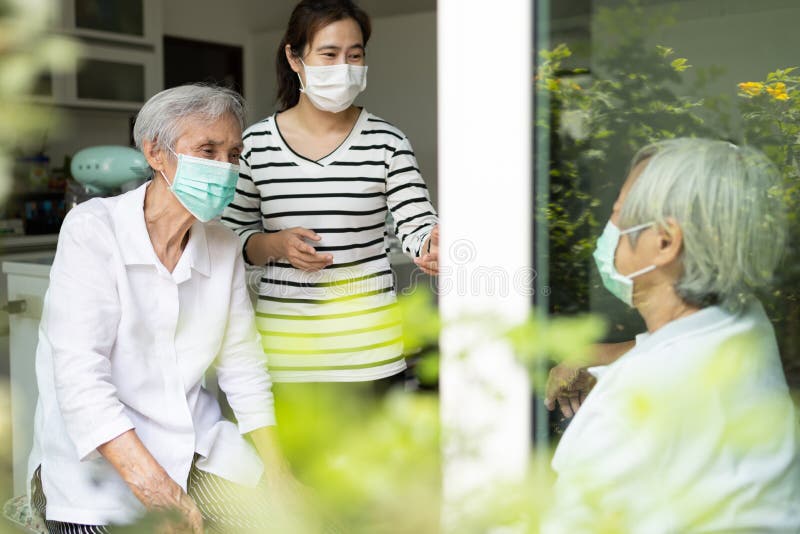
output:
{"label": "large glass pane with plants and yellow flowers around right woman's head", "polygon": [[[540,2],[541,3],[541,2]],[[645,329],[605,289],[592,258],[631,158],[644,145],[690,136],[752,145],[779,168],[792,212],[800,97],[793,20],[800,5],[699,0],[547,3],[539,62],[549,114],[549,267],[554,314],[597,312],[608,341]],[[784,31],[785,30],[785,31]],[[743,35],[748,35],[743,39]],[[540,99],[540,101],[544,101]],[[541,185],[541,184],[540,184]],[[796,217],[791,235],[800,232]],[[769,239],[769,232],[764,233]],[[784,368],[800,385],[800,264],[790,238],[777,284],[760,298],[775,321]],[[724,266],[720,266],[724,269]]]}

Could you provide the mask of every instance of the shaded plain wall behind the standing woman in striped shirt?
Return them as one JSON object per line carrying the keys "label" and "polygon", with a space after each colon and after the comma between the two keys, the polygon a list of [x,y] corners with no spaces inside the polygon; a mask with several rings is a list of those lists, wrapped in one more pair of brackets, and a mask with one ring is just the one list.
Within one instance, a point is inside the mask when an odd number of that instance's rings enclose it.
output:
{"label": "shaded plain wall behind the standing woman in striped shirt", "polygon": [[[275,111],[275,54],[282,35],[283,30],[271,30],[251,36],[255,87],[247,100],[254,120]],[[367,90],[356,104],[405,132],[437,205],[436,13],[374,18],[367,63]]]}

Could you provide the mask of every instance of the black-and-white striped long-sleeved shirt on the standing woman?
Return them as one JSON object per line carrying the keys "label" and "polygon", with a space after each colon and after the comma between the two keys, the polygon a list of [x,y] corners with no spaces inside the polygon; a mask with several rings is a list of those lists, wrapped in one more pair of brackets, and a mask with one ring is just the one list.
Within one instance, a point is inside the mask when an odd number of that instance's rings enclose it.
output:
{"label": "black-and-white striped long-sleeved shirt on the standing woman", "polygon": [[362,110],[345,141],[312,161],[289,148],[272,116],[245,131],[240,165],[222,221],[243,244],[299,226],[333,255],[319,272],[286,259],[265,267],[256,323],[273,380],[377,380],[405,369],[387,214],[413,256],[437,217],[403,132]]}

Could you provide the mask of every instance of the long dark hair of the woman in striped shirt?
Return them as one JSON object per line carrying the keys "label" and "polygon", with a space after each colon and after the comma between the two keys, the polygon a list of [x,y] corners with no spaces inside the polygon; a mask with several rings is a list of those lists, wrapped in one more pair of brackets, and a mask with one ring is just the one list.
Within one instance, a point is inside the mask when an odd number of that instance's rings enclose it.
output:
{"label": "long dark hair of the woman in striped shirt", "polygon": [[275,57],[280,111],[296,106],[300,100],[300,80],[286,59],[286,45],[299,57],[320,29],[344,19],[353,19],[358,23],[366,47],[372,25],[369,15],[352,0],[303,0],[295,6]]}

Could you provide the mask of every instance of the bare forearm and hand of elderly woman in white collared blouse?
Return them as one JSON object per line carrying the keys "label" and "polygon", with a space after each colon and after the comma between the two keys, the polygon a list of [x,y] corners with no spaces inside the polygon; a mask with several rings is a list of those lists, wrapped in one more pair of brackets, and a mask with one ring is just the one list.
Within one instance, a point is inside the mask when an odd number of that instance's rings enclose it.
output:
{"label": "bare forearm and hand of elderly woman in white collared blouse", "polygon": [[177,511],[180,514],[180,521],[163,523],[159,527],[160,533],[203,534],[200,509],[153,458],[134,430],[128,430],[100,445],[97,451],[114,466],[148,511]]}

